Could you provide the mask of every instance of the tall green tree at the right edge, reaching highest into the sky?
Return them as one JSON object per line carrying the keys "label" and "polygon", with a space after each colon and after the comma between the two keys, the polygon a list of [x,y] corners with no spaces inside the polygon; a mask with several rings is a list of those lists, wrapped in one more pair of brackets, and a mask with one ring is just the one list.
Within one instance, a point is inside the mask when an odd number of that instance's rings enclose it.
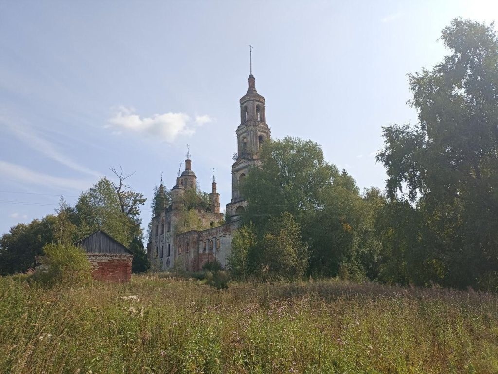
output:
{"label": "tall green tree at the right edge, reaching highest into the sky", "polygon": [[[422,222],[419,245],[402,256],[409,281],[489,285],[498,272],[498,39],[492,26],[457,18],[441,40],[450,54],[409,76],[418,123],[385,127],[377,160],[389,196],[411,200]],[[433,275],[414,278],[428,264]]]}

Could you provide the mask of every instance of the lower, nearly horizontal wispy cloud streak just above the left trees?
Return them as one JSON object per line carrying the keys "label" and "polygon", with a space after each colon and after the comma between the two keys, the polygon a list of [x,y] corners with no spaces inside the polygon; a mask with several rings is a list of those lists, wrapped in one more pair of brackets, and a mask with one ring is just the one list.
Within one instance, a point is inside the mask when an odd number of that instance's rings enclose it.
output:
{"label": "lower, nearly horizontal wispy cloud streak just above the left trees", "polygon": [[53,177],[5,161],[0,161],[0,175],[16,182],[62,189],[82,190],[92,185],[89,180]]}

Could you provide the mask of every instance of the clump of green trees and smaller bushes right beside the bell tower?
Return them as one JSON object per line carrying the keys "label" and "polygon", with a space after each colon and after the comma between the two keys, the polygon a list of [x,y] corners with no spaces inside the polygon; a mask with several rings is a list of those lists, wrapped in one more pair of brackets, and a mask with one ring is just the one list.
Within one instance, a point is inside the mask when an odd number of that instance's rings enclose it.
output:
{"label": "clump of green trees and smaller bushes right beside the bell tower", "polygon": [[265,271],[334,276],[342,269],[344,275],[361,278],[372,272],[379,250],[372,210],[384,201],[380,192],[362,196],[353,178],[327,163],[311,141],[266,142],[260,161],[241,186],[249,202],[245,220],[254,225],[256,239],[252,246],[243,244],[247,227],[236,237],[232,263],[238,264],[237,273],[241,253],[247,257],[246,276]]}

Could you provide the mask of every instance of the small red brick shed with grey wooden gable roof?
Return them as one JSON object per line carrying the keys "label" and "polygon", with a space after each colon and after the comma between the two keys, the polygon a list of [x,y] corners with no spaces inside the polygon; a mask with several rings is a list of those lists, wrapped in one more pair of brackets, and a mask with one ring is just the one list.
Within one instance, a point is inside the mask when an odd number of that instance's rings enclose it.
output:
{"label": "small red brick shed with grey wooden gable roof", "polygon": [[92,264],[94,279],[109,282],[127,282],[131,279],[133,253],[119,241],[96,231],[76,243]]}

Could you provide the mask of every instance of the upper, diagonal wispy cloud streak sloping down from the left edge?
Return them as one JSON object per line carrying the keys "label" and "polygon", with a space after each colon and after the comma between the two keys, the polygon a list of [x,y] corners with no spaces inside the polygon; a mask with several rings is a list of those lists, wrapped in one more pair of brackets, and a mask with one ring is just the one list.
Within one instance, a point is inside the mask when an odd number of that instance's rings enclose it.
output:
{"label": "upper, diagonal wispy cloud streak sloping down from the left edge", "polygon": [[74,160],[71,160],[70,157],[59,152],[52,143],[43,139],[42,135],[36,132],[33,128],[21,123],[14,124],[12,121],[6,120],[2,117],[0,117],[0,123],[3,124],[15,137],[17,137],[23,143],[40,152],[49,159],[57,161],[58,163],[67,166],[68,168],[77,172],[92,175],[95,177],[100,176],[99,173],[77,163]]}

